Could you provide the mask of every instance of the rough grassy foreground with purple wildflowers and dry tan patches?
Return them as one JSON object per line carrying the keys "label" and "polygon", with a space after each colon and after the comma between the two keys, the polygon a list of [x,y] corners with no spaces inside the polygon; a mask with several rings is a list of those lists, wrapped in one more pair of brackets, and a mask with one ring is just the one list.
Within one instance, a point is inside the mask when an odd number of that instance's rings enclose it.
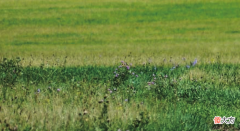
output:
{"label": "rough grassy foreground with purple wildflowers and dry tan patches", "polygon": [[[1,63],[4,130],[239,130],[234,64],[23,68]],[[235,117],[214,125],[215,116]]]}

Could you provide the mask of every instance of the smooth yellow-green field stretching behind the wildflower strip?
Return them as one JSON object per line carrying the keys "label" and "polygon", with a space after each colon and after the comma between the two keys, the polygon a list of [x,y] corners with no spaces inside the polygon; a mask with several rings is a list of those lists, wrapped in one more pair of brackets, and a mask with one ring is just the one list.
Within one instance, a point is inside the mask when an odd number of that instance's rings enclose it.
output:
{"label": "smooth yellow-green field stretching behind the wildflower strip", "polygon": [[223,63],[239,63],[239,5],[237,0],[2,0],[0,57],[20,56],[24,65],[39,65],[67,56],[71,66],[150,59],[159,65],[170,57],[175,63],[183,57],[213,62],[220,55]]}

